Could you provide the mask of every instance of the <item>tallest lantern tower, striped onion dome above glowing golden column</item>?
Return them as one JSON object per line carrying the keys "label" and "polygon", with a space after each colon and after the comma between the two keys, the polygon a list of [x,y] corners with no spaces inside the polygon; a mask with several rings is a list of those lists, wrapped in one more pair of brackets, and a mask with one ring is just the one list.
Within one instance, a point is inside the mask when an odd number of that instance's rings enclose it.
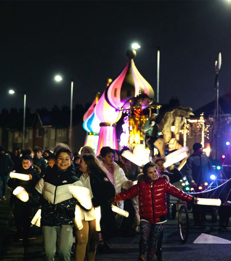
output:
{"label": "tallest lantern tower, striped onion dome above glowing golden column", "polygon": [[[136,56],[136,51],[128,50],[126,55],[128,61],[120,75],[108,85],[105,98],[108,104],[116,110],[129,112],[129,141],[125,144],[128,139],[125,137],[126,133],[122,133],[120,145],[133,146],[140,144],[141,139],[143,139],[141,128],[146,117],[143,115],[142,109],[151,107],[149,105],[153,101],[154,91],[135,66],[133,58]],[[141,107],[137,107],[134,99],[138,97],[141,101],[147,101],[147,105],[141,104]]]}

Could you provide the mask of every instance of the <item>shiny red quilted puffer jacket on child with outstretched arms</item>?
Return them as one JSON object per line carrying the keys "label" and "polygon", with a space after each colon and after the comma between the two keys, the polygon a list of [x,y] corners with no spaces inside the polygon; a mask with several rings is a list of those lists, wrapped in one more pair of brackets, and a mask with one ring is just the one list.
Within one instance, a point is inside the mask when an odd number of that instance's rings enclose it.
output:
{"label": "shiny red quilted puffer jacket on child with outstretched arms", "polygon": [[191,195],[159,177],[153,184],[146,178],[144,181],[138,181],[130,189],[116,194],[115,202],[138,195],[141,219],[148,220],[150,223],[158,223],[167,219],[166,193],[184,201],[192,200]]}

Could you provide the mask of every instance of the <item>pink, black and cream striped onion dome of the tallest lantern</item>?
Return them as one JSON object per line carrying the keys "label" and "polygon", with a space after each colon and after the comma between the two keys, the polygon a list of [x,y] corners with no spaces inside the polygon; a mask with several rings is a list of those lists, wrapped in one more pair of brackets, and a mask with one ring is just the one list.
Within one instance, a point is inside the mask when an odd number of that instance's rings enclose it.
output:
{"label": "pink, black and cream striped onion dome of the tallest lantern", "polygon": [[117,110],[129,98],[136,97],[139,94],[147,94],[149,98],[154,99],[152,86],[140,74],[133,61],[136,51],[128,50],[126,55],[128,62],[123,71],[108,85],[105,91],[106,101]]}

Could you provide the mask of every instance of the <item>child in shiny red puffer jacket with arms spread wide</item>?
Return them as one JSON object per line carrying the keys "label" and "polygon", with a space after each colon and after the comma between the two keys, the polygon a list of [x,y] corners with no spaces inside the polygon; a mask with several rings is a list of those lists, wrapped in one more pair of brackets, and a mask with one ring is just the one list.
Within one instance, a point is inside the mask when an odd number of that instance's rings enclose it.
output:
{"label": "child in shiny red puffer jacket with arms spread wide", "polygon": [[138,181],[130,189],[116,194],[115,202],[139,195],[141,238],[138,260],[144,260],[147,245],[147,260],[152,260],[163,224],[167,221],[166,193],[184,201],[192,201],[193,197],[174,187],[164,178],[158,178],[156,166],[152,162],[144,165],[143,173],[143,180]]}

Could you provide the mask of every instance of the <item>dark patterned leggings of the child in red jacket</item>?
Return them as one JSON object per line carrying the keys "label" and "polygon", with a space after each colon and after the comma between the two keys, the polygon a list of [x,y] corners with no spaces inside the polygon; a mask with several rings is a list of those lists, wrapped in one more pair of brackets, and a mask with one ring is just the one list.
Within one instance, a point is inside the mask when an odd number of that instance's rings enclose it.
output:
{"label": "dark patterned leggings of the child in red jacket", "polygon": [[140,255],[145,254],[148,245],[147,260],[153,260],[156,252],[158,238],[163,229],[163,224],[153,224],[146,221],[140,222],[141,238],[139,242]]}

